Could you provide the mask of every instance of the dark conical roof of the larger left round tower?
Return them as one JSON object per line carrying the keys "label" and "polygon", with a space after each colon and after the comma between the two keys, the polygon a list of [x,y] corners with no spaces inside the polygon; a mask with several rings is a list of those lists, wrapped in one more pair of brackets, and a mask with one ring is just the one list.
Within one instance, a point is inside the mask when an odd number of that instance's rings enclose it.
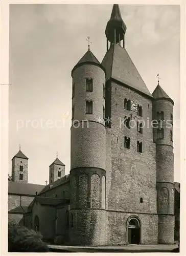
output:
{"label": "dark conical roof of the larger left round tower", "polygon": [[91,65],[96,65],[102,68],[105,72],[105,69],[99,62],[99,60],[96,58],[96,56],[88,49],[88,51],[83,55],[83,57],[78,61],[78,63],[75,65],[75,67],[72,70],[72,74],[74,70],[84,64],[91,64]]}

